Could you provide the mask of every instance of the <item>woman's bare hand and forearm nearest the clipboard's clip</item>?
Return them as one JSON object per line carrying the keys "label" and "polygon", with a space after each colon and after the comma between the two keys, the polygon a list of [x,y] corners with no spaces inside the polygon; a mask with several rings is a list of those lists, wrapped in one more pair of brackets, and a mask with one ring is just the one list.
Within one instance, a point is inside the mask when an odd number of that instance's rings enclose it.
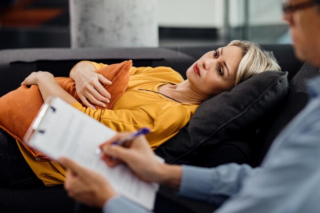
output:
{"label": "woman's bare hand and forearm nearest the clipboard's clip", "polygon": [[38,85],[43,101],[47,100],[49,96],[56,96],[69,104],[78,102],[56,82],[51,73],[33,72],[21,83],[21,85],[33,84]]}

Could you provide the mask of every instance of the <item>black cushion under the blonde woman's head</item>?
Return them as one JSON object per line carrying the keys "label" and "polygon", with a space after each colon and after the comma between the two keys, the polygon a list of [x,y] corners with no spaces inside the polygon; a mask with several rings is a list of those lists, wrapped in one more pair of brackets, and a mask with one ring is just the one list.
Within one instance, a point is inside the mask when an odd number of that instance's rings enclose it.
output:
{"label": "black cushion under the blonde woman's head", "polygon": [[211,167],[210,162],[195,158],[201,158],[205,150],[214,152],[219,144],[227,141],[242,141],[254,136],[262,119],[287,91],[286,72],[258,74],[200,104],[189,126],[159,147],[156,153],[169,163]]}

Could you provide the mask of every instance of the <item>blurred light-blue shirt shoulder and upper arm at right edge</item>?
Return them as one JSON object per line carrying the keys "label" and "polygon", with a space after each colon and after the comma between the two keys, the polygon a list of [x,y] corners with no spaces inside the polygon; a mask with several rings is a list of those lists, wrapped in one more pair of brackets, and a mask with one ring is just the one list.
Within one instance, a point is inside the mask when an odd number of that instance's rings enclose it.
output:
{"label": "blurred light-blue shirt shoulder and upper arm at right edge", "polygon": [[273,141],[261,170],[215,213],[317,213],[320,197],[320,99]]}

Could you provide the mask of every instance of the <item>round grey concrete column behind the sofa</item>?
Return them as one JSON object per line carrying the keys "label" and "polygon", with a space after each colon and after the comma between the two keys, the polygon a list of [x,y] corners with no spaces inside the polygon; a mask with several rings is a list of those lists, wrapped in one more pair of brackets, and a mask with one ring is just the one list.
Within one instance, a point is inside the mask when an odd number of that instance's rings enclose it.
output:
{"label": "round grey concrete column behind the sofa", "polygon": [[156,0],[70,0],[72,48],[156,47]]}

